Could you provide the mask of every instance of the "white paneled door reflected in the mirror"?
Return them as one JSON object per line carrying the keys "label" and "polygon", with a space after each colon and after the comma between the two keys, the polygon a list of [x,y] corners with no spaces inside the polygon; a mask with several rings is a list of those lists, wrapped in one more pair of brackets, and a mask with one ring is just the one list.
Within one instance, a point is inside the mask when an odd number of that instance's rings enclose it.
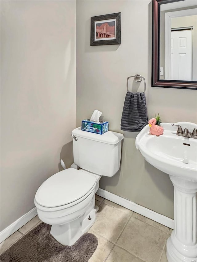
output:
{"label": "white paneled door reflected in the mirror", "polygon": [[192,30],[171,32],[171,76],[192,81]]}

